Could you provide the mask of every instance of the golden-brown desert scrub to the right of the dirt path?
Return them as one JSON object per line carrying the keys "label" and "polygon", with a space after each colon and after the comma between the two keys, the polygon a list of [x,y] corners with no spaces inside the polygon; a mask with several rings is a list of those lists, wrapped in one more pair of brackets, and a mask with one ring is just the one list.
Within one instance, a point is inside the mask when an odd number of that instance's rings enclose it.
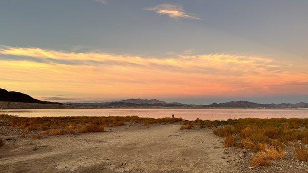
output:
{"label": "golden-brown desert scrub to the right of the dirt path", "polygon": [[[285,157],[285,145],[295,146],[294,155],[308,160],[308,119],[229,119],[227,121],[195,120],[181,129],[217,127],[213,132],[225,138],[224,147],[238,147],[255,152],[252,166],[269,166]],[[186,128],[190,127],[190,128]],[[299,146],[301,145],[301,146]]]}

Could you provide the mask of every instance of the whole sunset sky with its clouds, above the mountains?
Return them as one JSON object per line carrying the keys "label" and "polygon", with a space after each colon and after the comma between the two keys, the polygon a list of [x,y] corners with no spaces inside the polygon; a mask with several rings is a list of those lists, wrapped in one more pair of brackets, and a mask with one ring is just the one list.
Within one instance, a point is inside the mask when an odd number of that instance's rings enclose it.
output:
{"label": "whole sunset sky with its clouds, above the mountains", "polygon": [[56,102],[308,102],[308,1],[0,1],[0,88]]}

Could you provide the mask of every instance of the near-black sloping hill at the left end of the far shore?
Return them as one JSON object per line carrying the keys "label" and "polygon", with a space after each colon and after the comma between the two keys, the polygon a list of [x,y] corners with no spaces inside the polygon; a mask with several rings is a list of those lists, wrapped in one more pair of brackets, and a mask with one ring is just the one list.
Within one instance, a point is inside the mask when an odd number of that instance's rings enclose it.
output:
{"label": "near-black sloping hill at the left end of the far shore", "polygon": [[34,99],[30,95],[27,95],[21,92],[7,91],[1,88],[0,88],[0,101],[1,102],[22,102],[22,103],[61,104],[62,105],[62,103],[45,102],[45,101]]}

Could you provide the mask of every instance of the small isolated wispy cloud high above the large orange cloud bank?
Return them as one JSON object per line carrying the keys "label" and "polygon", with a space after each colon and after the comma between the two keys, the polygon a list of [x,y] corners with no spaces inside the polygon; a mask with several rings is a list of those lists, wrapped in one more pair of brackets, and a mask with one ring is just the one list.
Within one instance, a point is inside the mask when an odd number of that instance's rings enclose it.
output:
{"label": "small isolated wispy cloud high above the large orange cloud bank", "polygon": [[158,14],[165,14],[171,18],[188,18],[194,20],[202,20],[195,14],[188,14],[179,4],[160,4],[155,7],[144,8],[144,10],[152,10]]}

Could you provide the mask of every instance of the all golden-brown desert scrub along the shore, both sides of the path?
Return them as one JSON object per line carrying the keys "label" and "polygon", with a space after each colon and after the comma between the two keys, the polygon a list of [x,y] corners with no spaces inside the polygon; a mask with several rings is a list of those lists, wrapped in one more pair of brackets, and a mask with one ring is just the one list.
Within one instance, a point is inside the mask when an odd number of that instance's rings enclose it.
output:
{"label": "all golden-brown desert scrub along the shore, both sides of the path", "polygon": [[182,122],[181,130],[213,128],[214,134],[225,138],[224,147],[238,147],[255,153],[252,166],[269,166],[284,159],[285,147],[294,147],[294,156],[308,161],[308,119],[237,119],[226,121],[195,120],[181,118],[127,117],[36,117],[25,118],[0,115],[0,121],[14,128],[22,129],[20,137],[40,139],[45,136],[61,136],[87,132],[103,132],[106,127],[139,123],[147,128],[154,123]]}

